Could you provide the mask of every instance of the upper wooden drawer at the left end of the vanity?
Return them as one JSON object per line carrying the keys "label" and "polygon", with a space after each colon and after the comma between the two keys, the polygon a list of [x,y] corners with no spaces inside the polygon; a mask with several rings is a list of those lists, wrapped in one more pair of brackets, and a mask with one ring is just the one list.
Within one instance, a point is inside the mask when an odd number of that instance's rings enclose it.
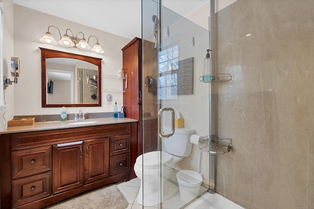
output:
{"label": "upper wooden drawer at the left end of the vanity", "polygon": [[51,153],[51,146],[12,152],[12,179],[50,171]]}

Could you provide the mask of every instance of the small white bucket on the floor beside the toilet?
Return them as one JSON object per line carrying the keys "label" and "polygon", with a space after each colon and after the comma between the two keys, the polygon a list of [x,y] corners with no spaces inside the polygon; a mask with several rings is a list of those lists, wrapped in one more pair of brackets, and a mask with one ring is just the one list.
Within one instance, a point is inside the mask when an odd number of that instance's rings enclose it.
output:
{"label": "small white bucket on the floor beside the toilet", "polygon": [[177,173],[180,197],[188,203],[200,193],[202,175],[192,170],[182,170]]}

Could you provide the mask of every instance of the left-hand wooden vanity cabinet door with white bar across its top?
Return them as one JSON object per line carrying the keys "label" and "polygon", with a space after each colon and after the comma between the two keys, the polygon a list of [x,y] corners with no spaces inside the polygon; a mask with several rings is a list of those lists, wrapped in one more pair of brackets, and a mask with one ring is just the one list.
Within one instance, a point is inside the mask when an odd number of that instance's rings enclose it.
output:
{"label": "left-hand wooden vanity cabinet door with white bar across its top", "polygon": [[[74,143],[74,144],[73,144]],[[53,194],[84,184],[84,156],[82,141],[58,144],[52,151]]]}

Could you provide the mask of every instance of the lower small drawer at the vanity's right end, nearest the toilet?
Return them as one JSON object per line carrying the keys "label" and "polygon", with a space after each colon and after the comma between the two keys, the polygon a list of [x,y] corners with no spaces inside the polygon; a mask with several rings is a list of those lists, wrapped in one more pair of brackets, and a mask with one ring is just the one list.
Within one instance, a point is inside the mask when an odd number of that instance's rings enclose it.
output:
{"label": "lower small drawer at the vanity's right end, nearest the toilet", "polygon": [[130,170],[130,153],[110,157],[110,176]]}

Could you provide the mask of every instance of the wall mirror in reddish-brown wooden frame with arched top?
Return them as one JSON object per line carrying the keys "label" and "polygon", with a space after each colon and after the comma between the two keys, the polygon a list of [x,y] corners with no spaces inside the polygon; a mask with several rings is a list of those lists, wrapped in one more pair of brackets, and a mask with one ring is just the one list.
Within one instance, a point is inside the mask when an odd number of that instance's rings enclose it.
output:
{"label": "wall mirror in reddish-brown wooden frame with arched top", "polygon": [[101,58],[40,49],[42,107],[101,106]]}

